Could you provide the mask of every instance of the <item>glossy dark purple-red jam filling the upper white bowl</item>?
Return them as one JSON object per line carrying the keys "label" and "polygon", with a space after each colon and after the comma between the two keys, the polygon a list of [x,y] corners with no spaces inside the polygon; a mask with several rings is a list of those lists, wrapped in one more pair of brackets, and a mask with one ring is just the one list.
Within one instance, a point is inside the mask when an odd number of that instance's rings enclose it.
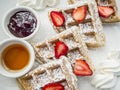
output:
{"label": "glossy dark purple-red jam filling the upper white bowl", "polygon": [[8,28],[16,37],[26,37],[32,34],[37,26],[37,19],[30,11],[18,11],[11,16]]}

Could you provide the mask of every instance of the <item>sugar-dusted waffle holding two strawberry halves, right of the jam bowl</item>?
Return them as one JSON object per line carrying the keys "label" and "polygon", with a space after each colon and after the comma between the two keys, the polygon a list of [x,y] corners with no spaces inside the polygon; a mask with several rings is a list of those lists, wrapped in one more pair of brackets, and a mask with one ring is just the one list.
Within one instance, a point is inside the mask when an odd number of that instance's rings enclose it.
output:
{"label": "sugar-dusted waffle holding two strawberry halves, right of the jam bowl", "polygon": [[[86,18],[82,23],[78,23],[72,18],[73,10],[80,6],[88,7]],[[96,8],[93,9],[93,7],[96,7]],[[65,24],[63,26],[56,27],[52,23],[50,13],[49,13],[50,21],[57,33],[65,31],[73,26],[77,26],[79,27],[79,31],[82,34],[82,40],[87,44],[89,48],[95,48],[95,47],[100,47],[104,45],[105,36],[102,30],[103,28],[98,15],[98,10],[95,2],[91,4],[91,3],[88,3],[87,0],[84,0],[84,2],[76,3],[64,9],[57,9],[53,11],[61,12],[65,17]]]}

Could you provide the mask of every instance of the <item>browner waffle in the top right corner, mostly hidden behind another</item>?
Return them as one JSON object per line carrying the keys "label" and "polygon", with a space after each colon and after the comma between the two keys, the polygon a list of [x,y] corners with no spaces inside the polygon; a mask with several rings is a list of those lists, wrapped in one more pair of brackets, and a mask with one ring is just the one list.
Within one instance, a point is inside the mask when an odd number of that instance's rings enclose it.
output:
{"label": "browner waffle in the top right corner, mostly hidden behind another", "polygon": [[[70,4],[83,1],[83,0],[68,0]],[[94,1],[94,0],[88,0],[88,1]],[[103,23],[114,23],[114,22],[120,22],[120,17],[118,14],[118,8],[116,5],[116,0],[96,0],[96,3],[98,6],[109,6],[112,7],[115,11],[114,14],[112,14],[108,18],[100,17]]]}

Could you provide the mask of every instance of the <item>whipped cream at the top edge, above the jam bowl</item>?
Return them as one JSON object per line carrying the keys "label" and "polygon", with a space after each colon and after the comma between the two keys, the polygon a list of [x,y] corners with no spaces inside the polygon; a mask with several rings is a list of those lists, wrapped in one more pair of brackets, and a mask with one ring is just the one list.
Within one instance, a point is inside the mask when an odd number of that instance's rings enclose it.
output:
{"label": "whipped cream at the top edge, above the jam bowl", "polygon": [[27,6],[36,10],[55,6],[59,0],[19,0],[17,6]]}

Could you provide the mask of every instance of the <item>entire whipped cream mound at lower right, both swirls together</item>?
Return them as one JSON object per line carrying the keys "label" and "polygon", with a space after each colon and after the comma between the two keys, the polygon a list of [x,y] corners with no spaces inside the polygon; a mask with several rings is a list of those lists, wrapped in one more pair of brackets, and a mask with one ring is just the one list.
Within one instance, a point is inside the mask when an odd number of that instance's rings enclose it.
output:
{"label": "entire whipped cream mound at lower right, both swirls together", "polygon": [[110,52],[97,69],[99,72],[92,77],[92,85],[100,89],[114,87],[120,75],[120,51]]}

